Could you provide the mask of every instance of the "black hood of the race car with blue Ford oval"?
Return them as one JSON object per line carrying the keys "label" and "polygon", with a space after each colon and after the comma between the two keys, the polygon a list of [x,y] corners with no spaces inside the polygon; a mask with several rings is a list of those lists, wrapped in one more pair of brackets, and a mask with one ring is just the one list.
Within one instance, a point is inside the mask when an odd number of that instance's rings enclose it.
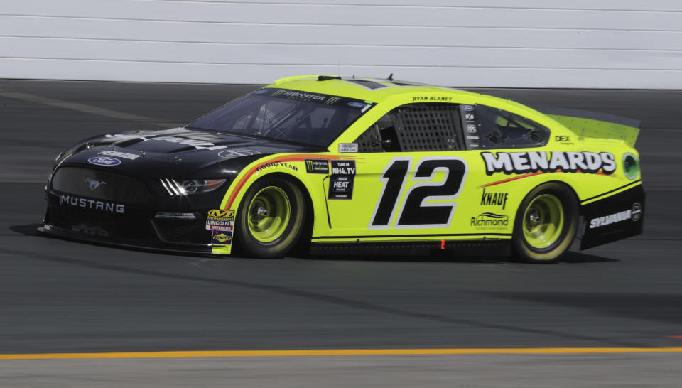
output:
{"label": "black hood of the race car with blue Ford oval", "polygon": [[175,128],[97,136],[66,151],[58,163],[111,168],[148,178],[219,178],[224,171],[232,173],[269,154],[320,151],[326,150],[272,139]]}

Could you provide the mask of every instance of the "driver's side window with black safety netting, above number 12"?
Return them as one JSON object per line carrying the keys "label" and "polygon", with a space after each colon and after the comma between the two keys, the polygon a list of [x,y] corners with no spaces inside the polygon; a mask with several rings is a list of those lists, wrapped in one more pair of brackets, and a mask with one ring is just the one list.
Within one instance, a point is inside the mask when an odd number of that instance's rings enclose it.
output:
{"label": "driver's side window with black safety netting, above number 12", "polygon": [[407,104],[393,109],[355,141],[360,152],[464,149],[455,104]]}

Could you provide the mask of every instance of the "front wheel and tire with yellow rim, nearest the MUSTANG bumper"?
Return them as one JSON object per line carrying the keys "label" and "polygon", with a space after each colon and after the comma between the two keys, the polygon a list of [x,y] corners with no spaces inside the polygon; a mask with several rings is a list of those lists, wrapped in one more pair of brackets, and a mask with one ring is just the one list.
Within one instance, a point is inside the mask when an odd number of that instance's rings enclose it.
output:
{"label": "front wheel and tire with yellow rim, nearest the MUSTANG bumper", "polygon": [[256,180],[237,211],[239,249],[252,257],[282,257],[298,242],[305,224],[305,198],[291,180]]}

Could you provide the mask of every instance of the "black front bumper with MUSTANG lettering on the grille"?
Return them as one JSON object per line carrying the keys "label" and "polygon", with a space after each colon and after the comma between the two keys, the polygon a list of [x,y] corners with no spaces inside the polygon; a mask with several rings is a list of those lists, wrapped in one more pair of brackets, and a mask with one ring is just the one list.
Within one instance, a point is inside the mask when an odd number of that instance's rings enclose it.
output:
{"label": "black front bumper with MUSTANG lettering on the grille", "polygon": [[[76,183],[64,174],[53,178],[45,193],[48,208],[42,232],[125,247],[212,253],[212,231],[206,229],[206,218],[209,210],[220,205],[221,193],[169,197],[161,190],[149,190],[150,183],[137,178],[81,170],[71,168],[69,173],[94,176],[107,185],[91,190],[78,183],[81,176],[71,179]],[[159,218],[158,213],[194,218]]]}

